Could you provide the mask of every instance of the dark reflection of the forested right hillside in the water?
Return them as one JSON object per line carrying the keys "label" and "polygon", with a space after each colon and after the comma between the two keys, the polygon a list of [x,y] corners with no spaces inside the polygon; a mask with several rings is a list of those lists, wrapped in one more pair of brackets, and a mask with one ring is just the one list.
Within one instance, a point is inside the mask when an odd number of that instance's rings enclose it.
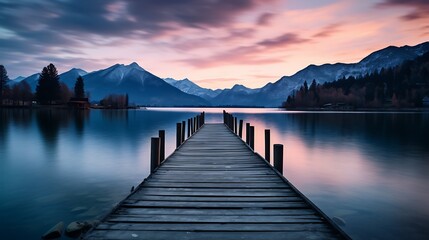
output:
{"label": "dark reflection of the forested right hillside in the water", "polygon": [[346,145],[358,142],[374,153],[401,155],[421,151],[429,156],[428,114],[289,113],[258,114],[251,118],[260,119],[284,136],[295,135],[310,147],[316,143],[332,147],[339,142]]}

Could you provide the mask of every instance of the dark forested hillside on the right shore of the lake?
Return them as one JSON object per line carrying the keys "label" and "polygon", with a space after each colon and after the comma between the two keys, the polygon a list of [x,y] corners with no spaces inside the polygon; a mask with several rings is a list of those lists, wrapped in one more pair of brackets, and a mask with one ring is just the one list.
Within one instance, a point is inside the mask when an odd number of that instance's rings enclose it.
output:
{"label": "dark forested hillside on the right shore of the lake", "polygon": [[318,84],[307,81],[283,103],[286,108],[421,107],[429,96],[429,52],[399,66],[360,77],[343,77]]}

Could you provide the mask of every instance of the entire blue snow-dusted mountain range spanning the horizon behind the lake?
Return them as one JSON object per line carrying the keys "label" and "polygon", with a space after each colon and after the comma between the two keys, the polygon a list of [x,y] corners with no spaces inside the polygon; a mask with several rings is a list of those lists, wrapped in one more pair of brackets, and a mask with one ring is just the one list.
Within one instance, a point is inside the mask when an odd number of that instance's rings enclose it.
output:
{"label": "entire blue snow-dusted mountain range spanning the horizon behind the lake", "polygon": [[[304,81],[317,83],[335,81],[342,77],[362,76],[382,68],[397,66],[429,51],[429,42],[416,46],[389,46],[373,52],[357,63],[309,65],[292,76],[283,76],[274,83],[251,89],[234,85],[231,89],[202,88],[185,78],[161,79],[137,63],[116,64],[109,68],[87,73],[73,68],[60,74],[60,80],[73,89],[78,76],[85,80],[85,90],[92,101],[109,94],[128,94],[130,102],[147,106],[263,106],[278,107]],[[27,81],[34,91],[39,74],[19,77],[13,82]]]}

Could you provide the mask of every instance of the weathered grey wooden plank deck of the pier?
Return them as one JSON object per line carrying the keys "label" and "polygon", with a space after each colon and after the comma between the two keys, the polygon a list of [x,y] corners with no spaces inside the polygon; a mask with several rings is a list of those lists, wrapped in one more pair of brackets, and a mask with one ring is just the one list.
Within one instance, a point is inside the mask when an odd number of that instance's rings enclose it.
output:
{"label": "weathered grey wooden plank deck of the pier", "polygon": [[349,238],[227,125],[205,124],[85,239]]}

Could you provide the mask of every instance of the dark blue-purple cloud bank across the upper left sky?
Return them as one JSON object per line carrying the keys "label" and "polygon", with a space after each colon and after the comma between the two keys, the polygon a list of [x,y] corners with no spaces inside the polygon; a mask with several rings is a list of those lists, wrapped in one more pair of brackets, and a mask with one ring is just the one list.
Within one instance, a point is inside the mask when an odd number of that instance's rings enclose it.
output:
{"label": "dark blue-purple cloud bank across the upper left sky", "polygon": [[2,0],[0,35],[8,36],[0,37],[0,63],[55,56],[84,42],[96,47],[100,37],[151,39],[184,27],[228,27],[242,13],[273,1]]}

